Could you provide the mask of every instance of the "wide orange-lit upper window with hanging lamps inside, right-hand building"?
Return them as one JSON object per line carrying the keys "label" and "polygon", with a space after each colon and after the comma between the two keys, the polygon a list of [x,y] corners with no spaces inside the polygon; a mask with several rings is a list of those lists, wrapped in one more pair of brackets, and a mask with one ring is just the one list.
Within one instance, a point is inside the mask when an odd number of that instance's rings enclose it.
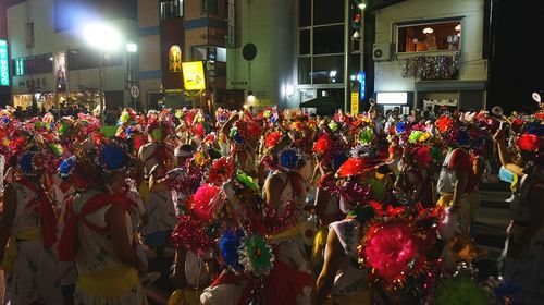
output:
{"label": "wide orange-lit upper window with hanging lamps inside, right-hand building", "polygon": [[398,25],[398,52],[426,52],[459,50],[461,42],[460,20],[434,23]]}

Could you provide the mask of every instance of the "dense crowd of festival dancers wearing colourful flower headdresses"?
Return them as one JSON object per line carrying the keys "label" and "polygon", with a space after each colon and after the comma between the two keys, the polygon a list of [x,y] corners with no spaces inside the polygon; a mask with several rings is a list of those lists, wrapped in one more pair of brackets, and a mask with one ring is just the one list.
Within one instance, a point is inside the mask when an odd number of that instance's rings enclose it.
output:
{"label": "dense crowd of festival dancers wearing colourful flower headdresses", "polygon": [[[174,305],[544,301],[542,110],[127,108],[111,137],[89,113],[0,117],[7,304],[147,304],[148,258],[169,252]],[[495,159],[512,221],[482,281]]]}

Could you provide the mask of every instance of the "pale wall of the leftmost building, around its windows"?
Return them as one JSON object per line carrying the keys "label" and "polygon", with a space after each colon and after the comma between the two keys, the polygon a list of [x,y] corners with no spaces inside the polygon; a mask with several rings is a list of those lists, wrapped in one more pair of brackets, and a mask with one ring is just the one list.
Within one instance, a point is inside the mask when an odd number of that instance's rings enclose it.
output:
{"label": "pale wall of the leftmost building, around its windows", "polygon": [[[66,51],[67,49],[87,47],[87,42],[83,37],[82,28],[74,28],[66,32],[54,32],[54,14],[53,0],[28,0],[26,2],[10,7],[8,9],[8,38],[11,46],[11,59],[25,58],[30,56],[54,53],[58,51]],[[34,48],[26,48],[25,45],[25,24],[34,23]],[[121,90],[125,89],[125,73],[127,71],[127,60],[125,42],[134,40],[136,37],[136,22],[133,20],[115,20],[109,24],[118,28],[125,37],[121,49],[123,64],[104,69],[104,90]],[[46,78],[46,86],[41,86],[42,90],[54,91],[54,73],[37,74],[28,76],[13,77],[13,94],[28,93],[26,86],[20,86],[20,81],[25,82],[27,78]],[[66,75],[67,90],[77,91],[81,86],[99,88],[99,71],[98,69],[70,71]],[[124,93],[124,103],[129,105],[131,97],[127,90]]]}

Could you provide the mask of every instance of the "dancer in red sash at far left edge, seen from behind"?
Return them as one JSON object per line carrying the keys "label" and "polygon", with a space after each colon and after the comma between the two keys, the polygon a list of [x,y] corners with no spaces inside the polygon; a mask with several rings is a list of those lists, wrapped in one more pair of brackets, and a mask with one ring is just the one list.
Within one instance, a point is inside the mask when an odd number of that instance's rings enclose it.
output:
{"label": "dancer in red sash at far left edge, seen from behind", "polygon": [[47,148],[41,147],[41,152],[36,148],[18,157],[16,170],[21,175],[5,186],[0,220],[0,269],[7,272],[5,301],[14,305],[64,304],[52,248],[57,213],[45,185]]}

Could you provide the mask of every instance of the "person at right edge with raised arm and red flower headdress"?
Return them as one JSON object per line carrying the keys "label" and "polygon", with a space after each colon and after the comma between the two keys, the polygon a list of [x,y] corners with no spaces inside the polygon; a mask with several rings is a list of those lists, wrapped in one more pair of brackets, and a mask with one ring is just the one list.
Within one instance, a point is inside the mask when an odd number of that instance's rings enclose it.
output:
{"label": "person at right edge with raised arm and red flower headdress", "polygon": [[508,152],[505,134],[498,130],[494,139],[498,145],[500,163],[519,176],[520,186],[510,204],[512,221],[507,229],[505,279],[514,280],[519,288],[515,300],[520,304],[539,304],[544,300],[544,129],[530,130],[517,138],[516,157]]}

